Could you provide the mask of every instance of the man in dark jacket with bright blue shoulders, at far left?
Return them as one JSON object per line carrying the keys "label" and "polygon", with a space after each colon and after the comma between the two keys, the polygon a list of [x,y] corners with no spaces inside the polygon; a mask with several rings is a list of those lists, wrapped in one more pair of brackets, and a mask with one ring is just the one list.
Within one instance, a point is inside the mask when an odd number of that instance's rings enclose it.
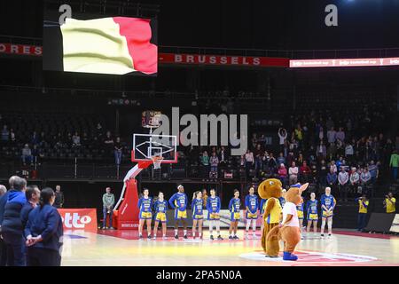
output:
{"label": "man in dark jacket with bright blue shoulders, at far left", "polygon": [[15,178],[13,188],[9,191],[4,206],[2,236],[7,249],[8,266],[25,266],[25,240],[23,237],[20,211],[27,202],[25,190],[27,181],[24,178]]}

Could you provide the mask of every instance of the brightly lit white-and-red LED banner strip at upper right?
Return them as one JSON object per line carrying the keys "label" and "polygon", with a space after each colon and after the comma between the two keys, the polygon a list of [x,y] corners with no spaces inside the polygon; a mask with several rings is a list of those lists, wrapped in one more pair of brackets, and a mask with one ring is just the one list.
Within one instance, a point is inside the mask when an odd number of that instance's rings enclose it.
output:
{"label": "brightly lit white-and-red LED banner strip at upper right", "polygon": [[379,59],[304,59],[290,60],[291,68],[304,67],[379,67],[398,66],[399,57]]}

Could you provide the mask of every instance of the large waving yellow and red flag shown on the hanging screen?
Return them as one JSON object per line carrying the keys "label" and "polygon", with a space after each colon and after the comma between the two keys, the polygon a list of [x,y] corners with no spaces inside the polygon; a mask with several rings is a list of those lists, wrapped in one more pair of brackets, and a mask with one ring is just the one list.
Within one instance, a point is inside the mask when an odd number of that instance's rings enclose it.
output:
{"label": "large waving yellow and red flag shown on the hanging screen", "polygon": [[61,26],[64,71],[123,75],[157,73],[158,47],[148,19],[66,19]]}

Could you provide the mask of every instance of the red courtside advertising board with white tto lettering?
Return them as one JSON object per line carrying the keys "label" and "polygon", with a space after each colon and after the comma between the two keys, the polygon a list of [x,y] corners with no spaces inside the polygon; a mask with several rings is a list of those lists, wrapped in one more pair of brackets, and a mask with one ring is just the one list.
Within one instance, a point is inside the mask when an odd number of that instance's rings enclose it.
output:
{"label": "red courtside advertising board with white tto lettering", "polygon": [[97,209],[59,209],[64,230],[97,232]]}

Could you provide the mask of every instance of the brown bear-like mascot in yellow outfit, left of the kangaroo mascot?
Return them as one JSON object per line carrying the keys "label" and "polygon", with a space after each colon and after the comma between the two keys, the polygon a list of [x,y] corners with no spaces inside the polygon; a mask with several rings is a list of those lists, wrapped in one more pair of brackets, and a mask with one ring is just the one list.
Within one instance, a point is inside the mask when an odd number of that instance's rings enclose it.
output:
{"label": "brown bear-like mascot in yellow outfit, left of the kangaroo mascot", "polygon": [[264,229],[262,232],[262,248],[266,256],[278,257],[278,237],[270,237],[266,241],[268,233],[274,227],[278,227],[281,219],[281,205],[278,198],[282,195],[282,184],[277,178],[264,180],[258,186],[258,194],[262,199],[267,200],[263,213]]}

